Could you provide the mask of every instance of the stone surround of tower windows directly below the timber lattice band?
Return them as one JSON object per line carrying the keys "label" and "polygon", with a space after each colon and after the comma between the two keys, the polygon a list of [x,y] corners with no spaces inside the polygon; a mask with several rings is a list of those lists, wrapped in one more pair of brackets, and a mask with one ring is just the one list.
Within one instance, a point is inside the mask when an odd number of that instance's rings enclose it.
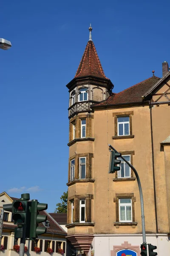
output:
{"label": "stone surround of tower windows directly below the timber lattice band", "polygon": [[[84,115],[78,115],[75,116],[73,119],[70,120],[70,128],[69,128],[69,143],[68,145],[73,142],[73,140],[76,142],[77,139],[86,139],[91,138],[91,119],[94,117],[91,114],[84,114]],[[86,137],[81,138],[81,120],[86,120]],[[73,137],[73,126],[75,125],[76,131],[75,131],[75,139]],[[73,143],[71,143],[73,144]]]}

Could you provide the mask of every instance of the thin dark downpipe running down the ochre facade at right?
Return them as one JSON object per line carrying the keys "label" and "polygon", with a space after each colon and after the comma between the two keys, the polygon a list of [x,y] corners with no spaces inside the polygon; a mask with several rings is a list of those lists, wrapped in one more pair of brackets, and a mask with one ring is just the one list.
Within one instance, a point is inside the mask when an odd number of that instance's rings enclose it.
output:
{"label": "thin dark downpipe running down the ochre facade at right", "polygon": [[151,145],[152,145],[152,168],[153,168],[153,192],[155,201],[155,219],[156,219],[156,233],[158,233],[158,219],[157,219],[157,207],[156,207],[156,186],[155,186],[155,165],[154,165],[154,148],[153,148],[153,127],[152,127],[152,103],[149,101],[150,108],[150,133],[151,133]]}

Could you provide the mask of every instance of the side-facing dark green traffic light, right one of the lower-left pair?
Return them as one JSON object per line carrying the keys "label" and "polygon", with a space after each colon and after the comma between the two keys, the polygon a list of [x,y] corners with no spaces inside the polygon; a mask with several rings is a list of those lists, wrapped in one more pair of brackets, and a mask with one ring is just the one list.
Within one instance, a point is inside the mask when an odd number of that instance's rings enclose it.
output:
{"label": "side-facing dark green traffic light, right one of the lower-left pair", "polygon": [[46,210],[48,204],[41,204],[37,200],[31,201],[30,212],[30,234],[29,238],[35,239],[38,235],[46,233],[46,227],[38,227],[38,224],[47,220],[47,215],[40,215],[39,212]]}

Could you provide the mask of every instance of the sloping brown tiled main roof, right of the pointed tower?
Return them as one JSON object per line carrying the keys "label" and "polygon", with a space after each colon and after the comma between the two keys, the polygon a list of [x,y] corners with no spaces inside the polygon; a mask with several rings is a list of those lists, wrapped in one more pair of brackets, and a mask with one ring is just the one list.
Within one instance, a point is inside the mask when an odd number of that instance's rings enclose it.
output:
{"label": "sloping brown tiled main roof, right of the pointed tower", "polygon": [[142,102],[142,95],[149,90],[157,81],[159,77],[152,76],[138,84],[135,84],[120,93],[113,93],[109,98],[98,104],[94,104],[92,108],[96,106],[114,105],[114,104],[125,104],[133,102]]}

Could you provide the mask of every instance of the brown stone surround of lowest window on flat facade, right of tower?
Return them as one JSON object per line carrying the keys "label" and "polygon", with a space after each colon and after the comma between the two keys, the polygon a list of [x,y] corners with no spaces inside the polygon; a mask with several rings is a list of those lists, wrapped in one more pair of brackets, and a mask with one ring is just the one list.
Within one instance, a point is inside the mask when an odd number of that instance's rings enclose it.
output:
{"label": "brown stone surround of lowest window on flat facade, right of tower", "polygon": [[[132,221],[129,221],[129,222],[119,221],[119,199],[120,198],[130,198],[132,200]],[[119,228],[119,226],[132,226],[133,228],[135,228],[135,226],[137,225],[137,222],[135,222],[134,202],[136,202],[136,198],[134,197],[134,193],[116,194],[116,197],[113,198],[113,202],[116,203],[116,222],[113,222],[114,226],[116,226],[116,228]]]}

